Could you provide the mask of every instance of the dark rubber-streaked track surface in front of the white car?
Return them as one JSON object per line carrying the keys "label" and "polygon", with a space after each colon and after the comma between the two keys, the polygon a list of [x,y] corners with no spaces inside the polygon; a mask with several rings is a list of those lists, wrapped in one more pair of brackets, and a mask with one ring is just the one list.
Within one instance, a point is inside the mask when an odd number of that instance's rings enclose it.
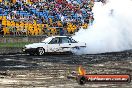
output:
{"label": "dark rubber-streaked track surface in front of the white car", "polygon": [[86,83],[67,79],[82,65],[88,74],[132,75],[132,51],[95,55],[0,55],[0,88],[132,88],[132,83]]}

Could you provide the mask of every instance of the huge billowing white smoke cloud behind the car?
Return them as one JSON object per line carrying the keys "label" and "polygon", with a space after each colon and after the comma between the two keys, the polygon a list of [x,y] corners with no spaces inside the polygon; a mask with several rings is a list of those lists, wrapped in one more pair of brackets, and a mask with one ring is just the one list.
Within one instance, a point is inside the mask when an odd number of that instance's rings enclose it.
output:
{"label": "huge billowing white smoke cloud behind the car", "polygon": [[79,54],[95,54],[132,49],[132,0],[109,0],[105,5],[96,2],[94,23],[80,29],[74,39],[87,43]]}

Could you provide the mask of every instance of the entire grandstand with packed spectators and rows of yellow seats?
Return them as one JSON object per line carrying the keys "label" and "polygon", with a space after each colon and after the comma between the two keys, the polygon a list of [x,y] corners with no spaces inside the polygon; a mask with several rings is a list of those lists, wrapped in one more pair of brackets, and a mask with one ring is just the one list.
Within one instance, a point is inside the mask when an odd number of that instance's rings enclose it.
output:
{"label": "entire grandstand with packed spectators and rows of yellow seats", "polygon": [[0,35],[74,34],[94,20],[94,0],[0,0]]}

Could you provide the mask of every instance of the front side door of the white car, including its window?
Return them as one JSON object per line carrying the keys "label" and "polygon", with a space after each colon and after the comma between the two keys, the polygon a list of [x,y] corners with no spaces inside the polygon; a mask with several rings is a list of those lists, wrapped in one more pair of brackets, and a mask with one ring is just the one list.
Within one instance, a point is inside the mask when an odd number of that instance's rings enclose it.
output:
{"label": "front side door of the white car, including its window", "polygon": [[48,44],[48,52],[60,52],[60,39],[59,37],[53,38]]}

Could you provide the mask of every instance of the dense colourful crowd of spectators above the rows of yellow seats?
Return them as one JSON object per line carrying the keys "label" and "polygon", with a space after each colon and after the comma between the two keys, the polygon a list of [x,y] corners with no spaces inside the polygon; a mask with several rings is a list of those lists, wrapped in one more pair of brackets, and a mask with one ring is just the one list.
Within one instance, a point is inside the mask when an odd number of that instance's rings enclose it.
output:
{"label": "dense colourful crowd of spectators above the rows of yellow seats", "polygon": [[[60,33],[73,34],[81,26],[87,28],[93,23],[93,6],[94,0],[41,0],[30,3],[26,0],[17,0],[16,3],[3,0],[0,16],[15,22],[47,24],[48,27],[42,30],[54,27],[59,28]],[[68,31],[69,24],[74,27],[73,31]],[[0,26],[2,30],[2,24]]]}

